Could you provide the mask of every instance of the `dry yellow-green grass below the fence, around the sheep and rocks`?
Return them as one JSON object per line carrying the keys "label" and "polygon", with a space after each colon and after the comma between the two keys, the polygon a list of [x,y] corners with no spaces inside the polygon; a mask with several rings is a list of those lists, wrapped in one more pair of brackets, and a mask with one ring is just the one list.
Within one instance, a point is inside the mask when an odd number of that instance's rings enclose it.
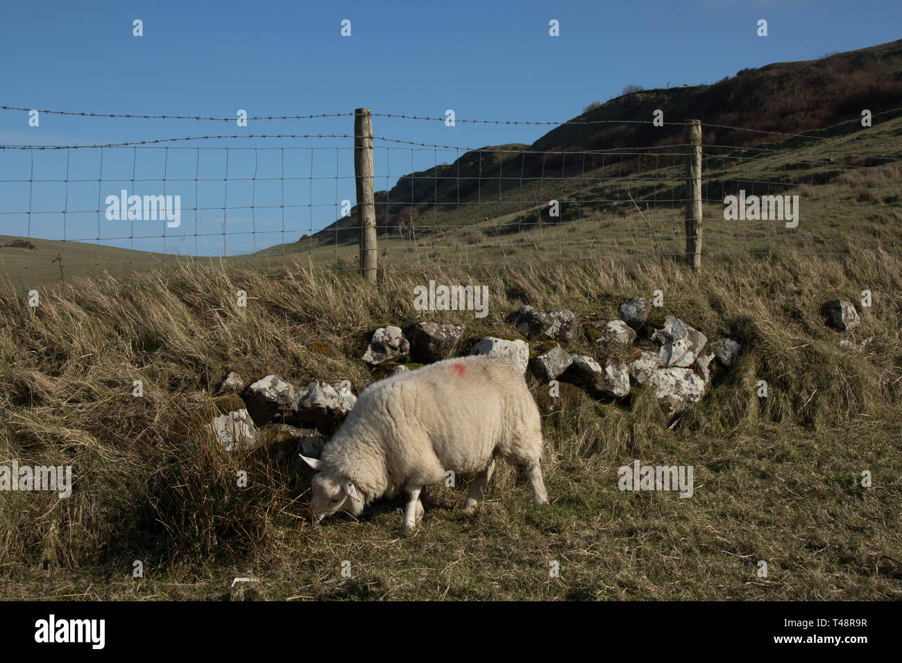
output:
{"label": "dry yellow-green grass below the fence, around the sheep and rocks", "polygon": [[[69,500],[0,493],[0,597],[898,599],[902,262],[844,249],[737,256],[700,274],[653,258],[389,270],[378,288],[303,262],[272,279],[198,267],[198,281],[47,292],[36,310],[0,296],[0,458],[73,465],[76,476]],[[181,269],[174,276],[194,267]],[[488,285],[490,315],[413,310],[412,288],[428,279]],[[239,287],[247,308],[235,306]],[[860,308],[861,327],[824,326],[825,299],[857,302],[864,289],[874,306]],[[348,379],[359,392],[377,372],[359,360],[358,340],[385,321],[513,333],[504,318],[523,304],[613,318],[621,301],[653,290],[664,312],[711,338],[740,337],[748,352],[676,422],[644,389],[596,401],[562,385],[553,400],[530,377],[546,438],[542,509],[500,463],[474,517],[461,508],[463,477],[428,489],[411,539],[398,537],[399,500],[314,529],[309,474],[262,453],[226,454],[204,429],[228,370]],[[873,340],[851,353],[841,337]],[[323,354],[325,343],[338,355]],[[567,349],[599,356],[584,337]],[[767,399],[755,395],[759,380]],[[617,468],[636,458],[693,465],[695,495],[621,493]],[[247,488],[235,484],[239,470]],[[548,576],[552,561],[559,578]],[[260,582],[230,588],[235,576]]]}

